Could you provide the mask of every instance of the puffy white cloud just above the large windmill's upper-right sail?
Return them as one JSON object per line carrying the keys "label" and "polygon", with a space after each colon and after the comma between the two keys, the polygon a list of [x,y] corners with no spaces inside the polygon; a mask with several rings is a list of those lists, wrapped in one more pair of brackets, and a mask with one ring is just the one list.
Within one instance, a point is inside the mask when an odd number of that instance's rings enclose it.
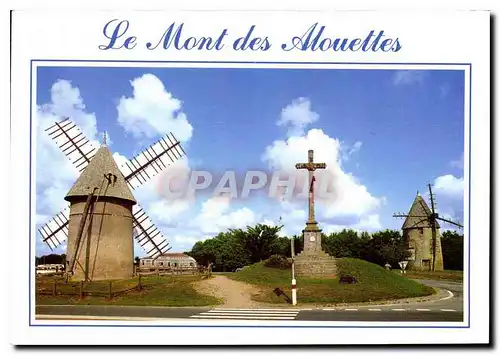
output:
{"label": "puffy white cloud just above the large windmill's upper-right sail", "polygon": [[133,96],[122,96],[118,109],[118,123],[136,138],[151,138],[172,132],[185,142],[193,134],[193,127],[182,112],[182,102],[165,89],[158,77],[144,74],[130,82]]}

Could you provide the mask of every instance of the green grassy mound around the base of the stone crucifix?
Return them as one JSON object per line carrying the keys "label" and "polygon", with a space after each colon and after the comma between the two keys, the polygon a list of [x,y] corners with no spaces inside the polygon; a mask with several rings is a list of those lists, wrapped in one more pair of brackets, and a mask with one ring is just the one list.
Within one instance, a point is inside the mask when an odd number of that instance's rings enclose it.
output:
{"label": "green grassy mound around the base of the stone crucifix", "polygon": [[[376,300],[426,296],[432,288],[387,271],[379,265],[359,259],[337,259],[337,279],[297,279],[297,298],[301,303],[351,303]],[[354,276],[356,284],[340,284],[341,275]],[[242,271],[228,273],[233,280],[259,285],[260,294],[252,298],[259,302],[283,303],[273,290],[280,287],[290,295],[291,270],[280,270],[264,266],[264,262],[250,265]]]}

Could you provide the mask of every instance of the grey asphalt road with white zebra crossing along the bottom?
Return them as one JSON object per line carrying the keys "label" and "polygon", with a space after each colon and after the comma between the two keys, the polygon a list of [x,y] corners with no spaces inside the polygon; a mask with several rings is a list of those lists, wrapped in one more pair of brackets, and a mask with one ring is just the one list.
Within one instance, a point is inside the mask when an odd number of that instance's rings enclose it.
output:
{"label": "grey asphalt road with white zebra crossing along the bottom", "polygon": [[463,286],[449,281],[419,280],[445,289],[438,300],[330,308],[209,308],[145,306],[36,306],[38,319],[201,319],[201,320],[300,320],[357,322],[461,322]]}

